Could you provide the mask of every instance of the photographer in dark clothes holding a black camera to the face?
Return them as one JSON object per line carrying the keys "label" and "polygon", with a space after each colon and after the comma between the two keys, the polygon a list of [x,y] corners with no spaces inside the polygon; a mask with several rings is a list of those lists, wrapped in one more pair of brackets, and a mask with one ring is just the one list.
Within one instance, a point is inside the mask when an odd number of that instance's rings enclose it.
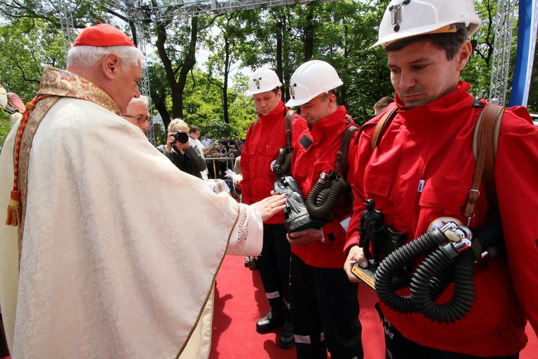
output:
{"label": "photographer in dark clothes holding a black camera to the face", "polygon": [[168,138],[166,145],[160,145],[161,151],[181,171],[202,178],[201,171],[207,167],[202,154],[192,145],[189,138],[189,126],[181,118],[175,118],[168,125]]}

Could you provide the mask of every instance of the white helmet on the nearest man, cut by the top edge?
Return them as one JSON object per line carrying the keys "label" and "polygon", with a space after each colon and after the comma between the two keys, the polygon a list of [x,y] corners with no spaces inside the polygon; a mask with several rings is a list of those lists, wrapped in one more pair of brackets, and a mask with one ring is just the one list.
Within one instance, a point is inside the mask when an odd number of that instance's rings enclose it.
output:
{"label": "white helmet on the nearest man, cut by the top edge", "polygon": [[453,24],[464,24],[471,35],[481,23],[473,0],[392,0],[372,47],[428,33],[456,32]]}

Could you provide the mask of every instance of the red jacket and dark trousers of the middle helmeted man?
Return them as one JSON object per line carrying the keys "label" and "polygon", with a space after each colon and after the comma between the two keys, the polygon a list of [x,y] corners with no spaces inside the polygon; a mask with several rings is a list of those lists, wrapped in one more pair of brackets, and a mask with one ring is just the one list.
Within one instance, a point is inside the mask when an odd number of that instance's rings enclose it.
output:
{"label": "red jacket and dark trousers of the middle helmeted man", "polygon": [[[299,183],[305,200],[322,171],[335,169],[342,135],[351,125],[354,122],[341,106],[299,138],[292,177]],[[350,145],[349,153],[353,152],[356,147]],[[334,220],[322,227],[325,243],[292,245],[290,296],[299,359],[326,358],[325,346],[332,358],[363,358],[358,286],[349,282],[342,268],[346,260],[342,252],[346,231],[340,222],[351,214],[351,205],[344,195],[333,212]]]}

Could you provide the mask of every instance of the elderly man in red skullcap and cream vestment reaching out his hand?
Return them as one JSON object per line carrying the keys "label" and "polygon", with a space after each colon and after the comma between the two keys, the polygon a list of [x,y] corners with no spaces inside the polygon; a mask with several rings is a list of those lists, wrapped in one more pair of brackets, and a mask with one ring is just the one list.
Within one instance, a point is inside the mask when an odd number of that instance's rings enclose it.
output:
{"label": "elderly man in red skullcap and cream vestment reaching out his hand", "polygon": [[258,255],[262,221],[284,207],[215,195],[120,117],[140,95],[141,60],[123,32],[82,30],[68,71],[44,69],[4,144],[0,307],[13,359],[206,358],[195,328],[223,257]]}

